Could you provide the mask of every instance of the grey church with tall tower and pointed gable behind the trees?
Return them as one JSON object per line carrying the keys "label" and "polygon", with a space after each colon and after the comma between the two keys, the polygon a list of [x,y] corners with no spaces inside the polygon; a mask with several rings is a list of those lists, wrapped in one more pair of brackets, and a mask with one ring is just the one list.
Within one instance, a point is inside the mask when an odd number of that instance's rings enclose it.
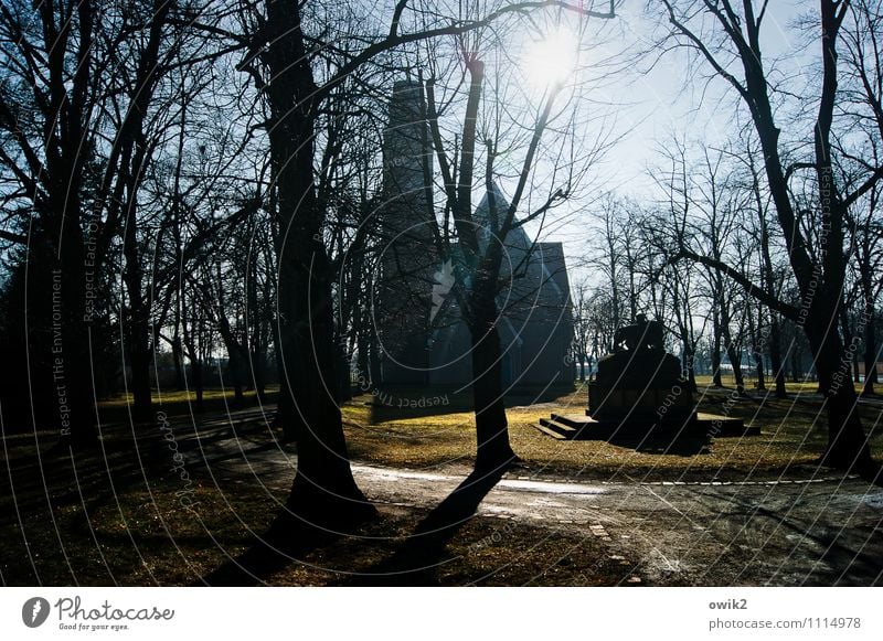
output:
{"label": "grey church with tall tower and pointed gable behind the trees", "polygon": [[[381,386],[418,385],[458,391],[472,380],[471,338],[455,288],[462,256],[456,238],[439,253],[433,192],[433,149],[418,83],[398,82],[384,132],[384,170],[377,207],[383,249],[373,306],[381,345]],[[494,206],[508,201],[493,186]],[[491,238],[487,194],[474,212],[479,242],[501,242],[497,330],[506,392],[570,385],[573,317],[561,243],[541,243],[517,226]],[[468,276],[465,278],[468,279]],[[468,282],[466,284],[468,286]]]}

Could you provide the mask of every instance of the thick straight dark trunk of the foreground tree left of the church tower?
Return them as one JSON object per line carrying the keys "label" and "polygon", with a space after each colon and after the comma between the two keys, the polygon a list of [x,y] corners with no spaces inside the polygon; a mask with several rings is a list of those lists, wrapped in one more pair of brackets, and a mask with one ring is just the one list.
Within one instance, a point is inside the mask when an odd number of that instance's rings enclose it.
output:
{"label": "thick straight dark trunk of the foreground tree left of the church tower", "polygon": [[287,509],[315,527],[351,524],[375,513],[355,484],[337,389],[332,274],[313,185],[316,86],[296,0],[267,0],[270,81],[267,98],[279,229],[281,397],[294,408],[298,463]]}

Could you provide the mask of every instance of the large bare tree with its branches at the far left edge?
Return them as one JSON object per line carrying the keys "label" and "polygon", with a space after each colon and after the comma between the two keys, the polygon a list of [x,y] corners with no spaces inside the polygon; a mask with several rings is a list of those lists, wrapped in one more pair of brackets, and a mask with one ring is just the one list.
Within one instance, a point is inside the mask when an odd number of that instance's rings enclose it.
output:
{"label": "large bare tree with its branches at the far left edge", "polygon": [[[94,170],[96,3],[11,1],[0,7],[0,160],[4,205],[22,220],[8,242],[33,249],[30,295],[35,392],[54,395],[55,423],[74,442],[93,442],[95,409],[87,320],[91,287],[105,258],[84,234],[87,175]],[[14,206],[21,205],[21,206]],[[87,259],[92,258],[87,268]],[[89,298],[87,298],[89,296]],[[54,318],[54,320],[53,320]],[[50,343],[38,336],[53,336]]]}

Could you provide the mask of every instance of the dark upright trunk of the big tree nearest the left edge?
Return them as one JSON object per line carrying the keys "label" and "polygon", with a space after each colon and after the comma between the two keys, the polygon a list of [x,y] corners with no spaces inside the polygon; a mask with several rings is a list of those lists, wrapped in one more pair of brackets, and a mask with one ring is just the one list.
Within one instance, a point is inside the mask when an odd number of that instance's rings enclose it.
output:
{"label": "dark upright trunk of the big tree nearest the left edge", "polygon": [[[97,441],[94,373],[92,366],[91,327],[86,308],[86,250],[83,235],[83,174],[89,156],[83,143],[87,139],[84,121],[89,89],[93,29],[93,7],[81,2],[76,7],[78,17],[77,50],[67,51],[61,44],[58,28],[67,31],[73,25],[73,9],[64,25],[56,22],[57,7],[52,3],[34,6],[35,17],[42,14],[42,29],[47,47],[46,68],[49,95],[43,95],[45,139],[45,165],[38,180],[43,181],[47,193],[44,202],[35,196],[40,213],[41,231],[51,238],[58,269],[52,274],[52,287],[45,291],[51,297],[50,311],[43,327],[51,329],[51,367],[57,409],[60,432],[63,441],[79,446],[92,446]],[[36,24],[34,24],[36,28]],[[72,33],[67,32],[67,36]],[[75,61],[70,60],[74,54]],[[73,78],[66,76],[67,63],[78,63]],[[50,121],[51,120],[51,121]],[[36,177],[35,177],[36,178]],[[92,256],[89,269],[94,270],[93,284],[97,287],[102,256]],[[36,293],[36,292],[35,292]],[[41,292],[42,293],[42,292]],[[38,295],[39,296],[39,295]],[[43,323],[40,322],[42,325]]]}

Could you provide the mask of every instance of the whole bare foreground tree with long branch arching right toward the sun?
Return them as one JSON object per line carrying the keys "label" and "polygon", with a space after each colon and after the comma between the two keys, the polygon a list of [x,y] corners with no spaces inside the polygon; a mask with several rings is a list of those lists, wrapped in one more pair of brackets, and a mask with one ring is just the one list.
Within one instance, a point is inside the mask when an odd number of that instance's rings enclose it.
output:
{"label": "whole bare foreground tree with long branch arching right toward the sun", "polygon": [[[298,439],[298,469],[288,509],[310,523],[348,523],[373,513],[352,478],[340,408],[330,391],[339,381],[334,274],[323,237],[327,212],[321,207],[313,173],[321,105],[347,77],[396,47],[467,33],[507,15],[547,6],[563,4],[501,3],[475,18],[442,17],[429,28],[408,30],[409,4],[400,0],[385,29],[366,33],[371,23],[361,17],[357,34],[348,31],[357,17],[332,23],[323,19],[320,7],[277,0],[265,2],[262,14],[251,23],[249,54],[241,68],[254,78],[269,107],[267,133],[283,234],[278,250],[279,357],[287,375],[283,400],[295,408]],[[340,24],[342,30],[338,29]],[[344,41],[352,45],[341,45]],[[313,61],[329,49],[344,52],[345,61],[319,75]]]}

